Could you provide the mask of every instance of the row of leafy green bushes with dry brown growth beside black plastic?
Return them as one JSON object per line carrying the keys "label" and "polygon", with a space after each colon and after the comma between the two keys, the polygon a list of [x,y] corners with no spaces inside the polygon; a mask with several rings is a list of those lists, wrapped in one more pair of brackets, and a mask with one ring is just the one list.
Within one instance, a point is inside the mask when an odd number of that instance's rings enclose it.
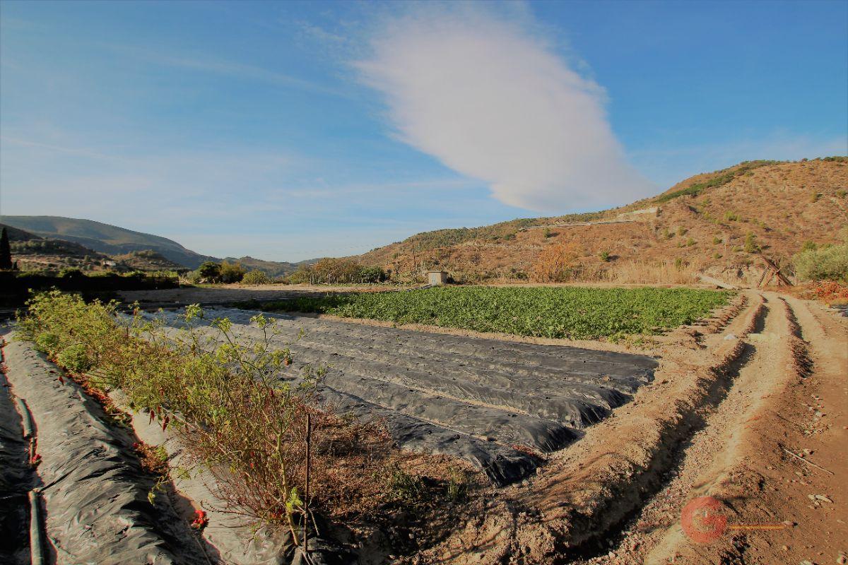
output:
{"label": "row of leafy green bushes with dry brown growth beside black plastic", "polygon": [[[381,487],[363,471],[391,463],[393,448],[382,424],[319,407],[314,384],[325,368],[293,368],[287,348],[271,346],[275,324],[262,314],[252,324],[259,333],[243,343],[228,319],[204,320],[195,305],[186,309],[183,330],[174,332],[164,319],[138,310],[121,316],[115,302],[86,304],[59,291],[34,296],[19,319],[21,339],[86,372],[87,387],[120,388],[135,410],[184,435],[192,458],[219,480],[232,512],[286,524],[297,544],[298,522],[310,516],[309,507],[332,513],[351,501],[376,501]],[[311,452],[310,499],[304,500],[307,434],[313,446],[347,448],[344,457],[323,447]]]}

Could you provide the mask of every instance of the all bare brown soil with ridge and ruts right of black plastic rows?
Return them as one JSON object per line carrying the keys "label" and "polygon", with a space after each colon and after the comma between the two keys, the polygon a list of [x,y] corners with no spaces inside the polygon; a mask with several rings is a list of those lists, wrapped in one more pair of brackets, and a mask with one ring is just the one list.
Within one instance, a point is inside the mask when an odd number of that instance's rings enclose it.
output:
{"label": "all bare brown soil with ridge and ruts right of black plastic rows", "polygon": [[[420,562],[841,562],[848,324],[815,302],[748,299],[714,333],[676,332],[633,402]],[[706,544],[681,528],[699,496],[728,521]]]}

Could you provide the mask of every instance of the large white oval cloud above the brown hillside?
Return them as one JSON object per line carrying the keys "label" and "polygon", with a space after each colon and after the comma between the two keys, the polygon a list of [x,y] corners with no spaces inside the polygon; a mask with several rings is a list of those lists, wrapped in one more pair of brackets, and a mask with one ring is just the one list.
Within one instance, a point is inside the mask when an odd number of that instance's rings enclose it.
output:
{"label": "large white oval cloud above the brown hillside", "polygon": [[486,181],[501,202],[553,213],[650,194],[611,131],[603,89],[522,19],[419,9],[385,22],[355,67],[385,96],[400,139]]}

